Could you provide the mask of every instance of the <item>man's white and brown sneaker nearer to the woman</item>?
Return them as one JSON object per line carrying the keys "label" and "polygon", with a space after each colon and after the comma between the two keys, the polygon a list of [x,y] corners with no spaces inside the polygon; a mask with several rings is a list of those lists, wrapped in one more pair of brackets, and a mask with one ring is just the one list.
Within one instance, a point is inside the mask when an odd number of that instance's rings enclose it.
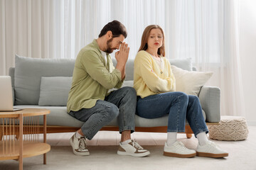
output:
{"label": "man's white and brown sneaker nearer to the woman", "polygon": [[132,157],[146,157],[150,152],[146,149],[143,149],[137,142],[131,140],[126,145],[122,145],[119,142],[119,149],[117,151],[119,155],[130,155]]}

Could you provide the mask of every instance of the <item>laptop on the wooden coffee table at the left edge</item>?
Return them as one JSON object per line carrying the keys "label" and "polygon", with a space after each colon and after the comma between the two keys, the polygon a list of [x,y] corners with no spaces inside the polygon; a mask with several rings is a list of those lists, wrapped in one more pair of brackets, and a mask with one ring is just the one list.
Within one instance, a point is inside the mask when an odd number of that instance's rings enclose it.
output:
{"label": "laptop on the wooden coffee table at the left edge", "polygon": [[0,76],[0,112],[20,110],[21,108],[14,108],[11,77]]}

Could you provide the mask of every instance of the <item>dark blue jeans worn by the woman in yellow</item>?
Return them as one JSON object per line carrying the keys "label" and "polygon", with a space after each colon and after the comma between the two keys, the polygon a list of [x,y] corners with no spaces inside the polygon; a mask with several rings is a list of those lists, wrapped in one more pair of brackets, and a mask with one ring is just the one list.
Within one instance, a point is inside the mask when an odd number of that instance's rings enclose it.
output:
{"label": "dark blue jeans worn by the woman in yellow", "polygon": [[138,97],[137,115],[140,117],[159,118],[166,114],[169,114],[167,132],[185,132],[186,119],[195,136],[208,132],[197,96],[176,91]]}

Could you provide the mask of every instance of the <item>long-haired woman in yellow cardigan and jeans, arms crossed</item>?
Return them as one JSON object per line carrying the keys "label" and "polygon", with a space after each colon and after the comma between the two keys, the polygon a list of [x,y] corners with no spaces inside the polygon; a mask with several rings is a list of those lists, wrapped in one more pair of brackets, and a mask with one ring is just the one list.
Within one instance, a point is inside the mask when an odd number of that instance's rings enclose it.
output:
{"label": "long-haired woman in yellow cardigan and jeans, arms crossed", "polygon": [[[169,157],[228,157],[228,152],[208,140],[208,128],[197,96],[175,91],[175,77],[165,57],[164,31],[147,26],[134,60],[134,89],[137,91],[137,115],[159,118],[169,114],[164,155]],[[177,132],[185,132],[188,120],[198,139],[196,151],[178,142]]]}

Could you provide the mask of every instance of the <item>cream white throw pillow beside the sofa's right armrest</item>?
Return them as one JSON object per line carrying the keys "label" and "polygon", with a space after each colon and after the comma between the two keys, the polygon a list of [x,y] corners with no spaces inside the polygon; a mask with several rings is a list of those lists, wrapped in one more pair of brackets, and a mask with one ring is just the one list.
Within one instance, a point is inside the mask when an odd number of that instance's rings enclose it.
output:
{"label": "cream white throw pillow beside the sofa's right armrest", "polygon": [[171,69],[176,79],[176,91],[195,96],[198,96],[201,87],[213,75],[213,72],[188,72],[173,65]]}

